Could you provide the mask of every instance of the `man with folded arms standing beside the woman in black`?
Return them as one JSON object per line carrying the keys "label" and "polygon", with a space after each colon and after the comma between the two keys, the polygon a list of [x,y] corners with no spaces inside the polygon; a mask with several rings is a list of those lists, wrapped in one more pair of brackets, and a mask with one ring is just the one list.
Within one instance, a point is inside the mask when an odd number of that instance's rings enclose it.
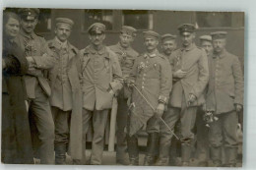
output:
{"label": "man with folded arms standing beside the woman in black", "polygon": [[33,31],[38,22],[38,9],[20,9],[21,31],[19,43],[29,62],[25,84],[29,97],[29,111],[38,131],[40,163],[54,163],[54,122],[51,115],[50,86],[43,77],[43,71],[51,69],[55,60],[43,37]]}

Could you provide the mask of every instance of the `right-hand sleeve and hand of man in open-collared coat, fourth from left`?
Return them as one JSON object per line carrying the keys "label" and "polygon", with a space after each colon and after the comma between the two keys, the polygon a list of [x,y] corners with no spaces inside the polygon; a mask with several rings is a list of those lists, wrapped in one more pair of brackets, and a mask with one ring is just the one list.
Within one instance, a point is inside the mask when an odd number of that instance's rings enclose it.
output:
{"label": "right-hand sleeve and hand of man in open-collared coat, fourth from left", "polygon": [[109,52],[111,55],[112,60],[112,74],[113,74],[113,82],[110,83],[110,86],[114,93],[120,90],[123,87],[123,78],[122,78],[122,71],[121,67],[118,62],[118,58],[114,52]]}

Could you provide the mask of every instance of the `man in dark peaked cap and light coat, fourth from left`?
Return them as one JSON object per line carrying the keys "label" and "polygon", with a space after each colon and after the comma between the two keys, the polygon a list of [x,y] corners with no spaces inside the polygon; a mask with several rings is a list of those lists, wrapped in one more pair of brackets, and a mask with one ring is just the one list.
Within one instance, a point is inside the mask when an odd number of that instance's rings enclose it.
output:
{"label": "man in dark peaked cap and light coat, fourth from left", "polygon": [[104,131],[113,96],[122,88],[122,71],[118,57],[104,44],[105,26],[100,23],[88,28],[91,44],[81,50],[83,84],[84,141],[93,119],[94,137],[91,164],[101,164]]}

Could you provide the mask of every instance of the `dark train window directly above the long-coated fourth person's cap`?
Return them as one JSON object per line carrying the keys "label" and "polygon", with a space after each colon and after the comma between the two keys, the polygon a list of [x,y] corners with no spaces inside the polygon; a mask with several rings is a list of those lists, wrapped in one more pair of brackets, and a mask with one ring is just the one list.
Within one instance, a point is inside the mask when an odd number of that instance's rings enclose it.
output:
{"label": "dark train window directly above the long-coated fourth person's cap", "polygon": [[94,23],[102,23],[106,30],[113,29],[113,10],[85,10],[83,30],[87,30]]}

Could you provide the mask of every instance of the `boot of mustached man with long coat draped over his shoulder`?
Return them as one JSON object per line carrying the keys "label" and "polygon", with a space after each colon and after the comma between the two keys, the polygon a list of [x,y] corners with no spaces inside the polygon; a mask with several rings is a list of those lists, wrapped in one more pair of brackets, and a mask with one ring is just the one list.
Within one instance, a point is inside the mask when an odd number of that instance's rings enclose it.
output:
{"label": "boot of mustached man with long coat draped over his shoulder", "polygon": [[55,145],[55,164],[56,165],[66,164],[66,145],[65,144]]}

